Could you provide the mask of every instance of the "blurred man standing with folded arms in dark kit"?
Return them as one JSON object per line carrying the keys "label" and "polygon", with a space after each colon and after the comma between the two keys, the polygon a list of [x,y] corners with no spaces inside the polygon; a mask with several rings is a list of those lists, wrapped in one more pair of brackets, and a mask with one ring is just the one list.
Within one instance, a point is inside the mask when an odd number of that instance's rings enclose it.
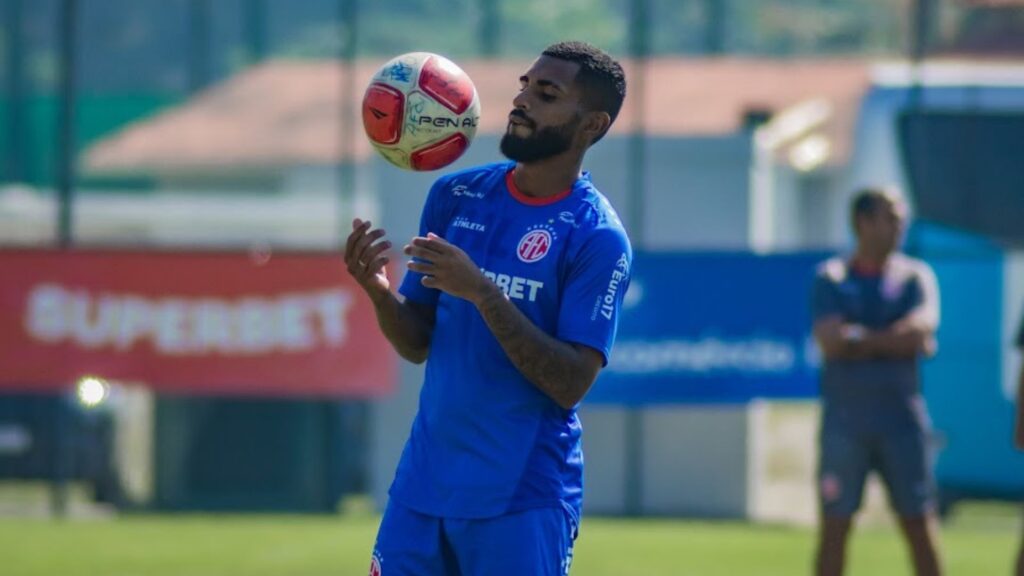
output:
{"label": "blurred man standing with folded arms in dark kit", "polygon": [[819,576],[843,573],[864,481],[877,471],[919,576],[941,573],[931,423],[920,359],[935,353],[938,285],[931,268],[899,252],[906,208],[892,191],[859,192],[851,205],[852,256],[817,272],[814,336],[824,355],[818,495]]}

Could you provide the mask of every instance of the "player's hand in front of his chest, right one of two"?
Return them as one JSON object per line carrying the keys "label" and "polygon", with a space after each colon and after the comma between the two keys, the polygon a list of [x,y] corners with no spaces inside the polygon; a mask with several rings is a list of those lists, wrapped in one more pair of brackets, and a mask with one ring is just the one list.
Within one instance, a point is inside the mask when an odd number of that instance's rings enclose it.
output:
{"label": "player's hand in front of his chest, right one of two", "polygon": [[404,252],[417,258],[409,262],[409,270],[423,274],[421,282],[428,288],[475,302],[494,286],[469,254],[436,234],[414,238]]}

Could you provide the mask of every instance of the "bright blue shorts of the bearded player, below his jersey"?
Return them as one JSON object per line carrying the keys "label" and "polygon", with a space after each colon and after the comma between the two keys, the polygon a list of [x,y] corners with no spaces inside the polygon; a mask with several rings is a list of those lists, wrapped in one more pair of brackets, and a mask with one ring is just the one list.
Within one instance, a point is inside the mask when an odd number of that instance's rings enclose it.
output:
{"label": "bright blue shorts of the bearded player, below his jersey", "polygon": [[482,520],[446,519],[388,502],[371,576],[565,576],[575,521],[561,507]]}

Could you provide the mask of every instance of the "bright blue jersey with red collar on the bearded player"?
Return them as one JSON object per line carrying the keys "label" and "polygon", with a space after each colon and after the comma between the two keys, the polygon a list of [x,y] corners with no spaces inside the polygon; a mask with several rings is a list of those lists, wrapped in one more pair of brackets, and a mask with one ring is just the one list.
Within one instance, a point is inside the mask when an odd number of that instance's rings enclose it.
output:
{"label": "bright blue jersey with red collar on the bearded player", "polygon": [[[584,174],[537,199],[516,190],[513,163],[473,168],[430,190],[420,235],[466,251],[552,336],[607,363],[632,251],[614,210]],[[420,409],[391,497],[422,513],[480,519],[540,506],[579,517],[580,419],[515,368],[477,310],[408,272],[400,292],[436,305]]]}

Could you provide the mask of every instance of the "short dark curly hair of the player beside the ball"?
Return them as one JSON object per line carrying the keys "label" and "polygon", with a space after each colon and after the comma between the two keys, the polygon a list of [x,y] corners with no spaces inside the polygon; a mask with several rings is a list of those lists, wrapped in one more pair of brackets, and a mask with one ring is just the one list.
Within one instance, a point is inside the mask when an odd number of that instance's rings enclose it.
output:
{"label": "short dark curly hair of the player beside the ball", "polygon": [[[580,65],[575,82],[583,88],[583,104],[588,110],[608,113],[610,128],[626,98],[623,67],[604,50],[575,40],[552,44],[542,54]],[[598,134],[594,142],[603,138],[606,132],[607,129]]]}

